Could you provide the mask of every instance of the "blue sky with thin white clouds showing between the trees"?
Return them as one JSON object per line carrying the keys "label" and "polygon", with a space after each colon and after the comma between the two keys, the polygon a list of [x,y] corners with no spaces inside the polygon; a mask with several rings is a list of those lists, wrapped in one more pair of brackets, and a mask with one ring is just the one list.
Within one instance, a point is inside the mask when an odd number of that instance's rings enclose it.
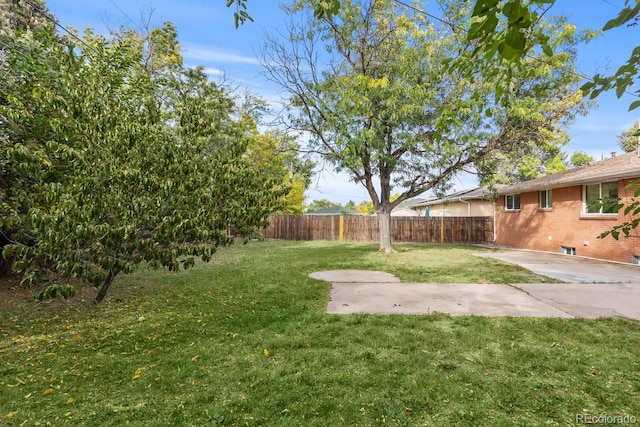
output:
{"label": "blue sky with thin white clouds showing between the trees", "polygon": [[[86,27],[105,32],[109,26],[136,26],[142,22],[142,16],[148,17],[153,11],[152,26],[164,21],[176,25],[185,65],[202,65],[214,80],[225,75],[265,99],[279,99],[278,88],[261,76],[259,63],[265,31],[277,30],[284,23],[277,0],[250,0],[249,13],[255,22],[237,30],[233,9],[225,7],[225,0],[46,0],[46,3],[60,24],[80,32]],[[623,6],[624,0],[558,0],[550,13],[568,16],[578,30],[600,29]],[[637,45],[640,26],[608,31],[579,46],[580,72],[590,76],[613,71]],[[599,96],[598,106],[567,129],[571,141],[565,151],[569,154],[584,151],[596,159],[608,157],[614,151],[619,153],[616,136],[640,119],[640,109],[627,111],[631,100],[628,95],[617,99],[613,93]],[[470,177],[454,180],[457,190],[475,185]],[[314,178],[312,187],[307,192],[308,201],[329,199],[344,204],[349,200],[356,203],[369,200],[362,186],[327,169]]]}

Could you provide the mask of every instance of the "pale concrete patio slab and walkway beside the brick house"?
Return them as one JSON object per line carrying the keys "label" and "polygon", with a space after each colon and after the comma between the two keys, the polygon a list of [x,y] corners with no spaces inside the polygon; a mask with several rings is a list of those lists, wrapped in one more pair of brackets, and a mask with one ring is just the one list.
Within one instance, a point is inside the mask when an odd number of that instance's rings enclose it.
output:
{"label": "pale concrete patio slab and walkway beside the brick house", "polygon": [[[332,283],[327,312],[334,314],[438,312],[451,315],[559,318],[620,316],[640,320],[640,268],[611,263],[600,265],[598,261],[554,257],[554,254],[546,253],[513,253],[496,252],[489,256],[505,261],[511,256],[510,262],[515,262],[520,256],[529,263],[530,270],[574,283],[400,283],[391,274],[366,270],[321,271],[310,276]],[[528,268],[527,265],[523,266]],[[588,276],[589,271],[594,276]],[[597,283],[606,278],[619,283]]]}

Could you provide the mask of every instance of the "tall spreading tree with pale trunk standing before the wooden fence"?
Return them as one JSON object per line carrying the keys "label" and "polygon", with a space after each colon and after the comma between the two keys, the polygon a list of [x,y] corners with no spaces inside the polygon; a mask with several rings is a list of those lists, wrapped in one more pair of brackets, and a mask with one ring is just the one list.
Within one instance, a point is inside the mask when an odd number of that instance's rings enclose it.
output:
{"label": "tall spreading tree with pale trunk standing before the wooden fence", "polygon": [[[478,45],[466,39],[470,11],[440,2],[438,21],[416,12],[424,7],[345,1],[338,15],[318,20],[313,1],[297,1],[288,9],[288,33],[265,46],[268,78],[291,93],[288,125],[366,188],[383,252],[393,250],[390,212],[399,203],[465,168],[486,172],[497,153],[556,139],[580,105],[571,51],[505,69],[511,84],[503,90],[514,96],[496,103],[484,77],[500,61],[478,61],[464,76],[449,72],[453,62],[478,60]],[[571,26],[545,28],[554,45],[572,46]]]}

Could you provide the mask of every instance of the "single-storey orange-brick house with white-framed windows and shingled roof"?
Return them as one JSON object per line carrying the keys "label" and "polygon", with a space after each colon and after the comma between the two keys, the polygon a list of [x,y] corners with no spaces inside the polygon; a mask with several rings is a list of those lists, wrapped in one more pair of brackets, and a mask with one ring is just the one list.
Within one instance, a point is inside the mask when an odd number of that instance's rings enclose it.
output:
{"label": "single-storey orange-brick house with white-framed windows and shingled roof", "polygon": [[587,166],[503,187],[496,200],[496,245],[640,263],[640,229],[619,240],[598,235],[628,221],[592,202],[619,197],[627,204],[640,179],[640,157],[632,152]]}

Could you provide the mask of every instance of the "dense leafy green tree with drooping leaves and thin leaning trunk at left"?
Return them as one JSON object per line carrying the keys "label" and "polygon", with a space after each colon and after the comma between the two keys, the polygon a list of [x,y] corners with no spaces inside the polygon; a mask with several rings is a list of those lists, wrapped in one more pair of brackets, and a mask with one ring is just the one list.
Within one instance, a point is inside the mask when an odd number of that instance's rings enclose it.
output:
{"label": "dense leafy green tree with drooping leaves and thin leaning trunk at left", "polygon": [[3,252],[24,285],[55,272],[99,287],[101,301],[119,273],[206,261],[231,243],[229,224],[249,232],[279,209],[233,101],[202,70],[149,69],[147,41],[126,34],[38,42],[25,54],[14,40],[0,82],[15,230]]}

